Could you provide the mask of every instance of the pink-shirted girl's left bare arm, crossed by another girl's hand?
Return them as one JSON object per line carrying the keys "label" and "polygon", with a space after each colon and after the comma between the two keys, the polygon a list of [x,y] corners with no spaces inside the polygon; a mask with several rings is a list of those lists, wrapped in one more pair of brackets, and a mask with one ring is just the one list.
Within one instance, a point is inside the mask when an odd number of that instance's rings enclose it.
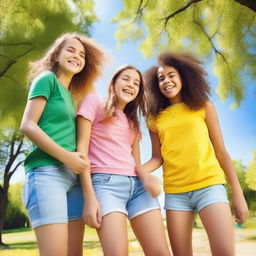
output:
{"label": "pink-shirted girl's left bare arm, crossed by another girl's hand", "polygon": [[[77,117],[77,149],[86,157],[88,157],[91,129],[92,123],[89,120],[82,116]],[[86,171],[80,174],[80,181],[85,198],[84,221],[91,227],[100,228],[100,206],[92,186],[91,173]]]}

